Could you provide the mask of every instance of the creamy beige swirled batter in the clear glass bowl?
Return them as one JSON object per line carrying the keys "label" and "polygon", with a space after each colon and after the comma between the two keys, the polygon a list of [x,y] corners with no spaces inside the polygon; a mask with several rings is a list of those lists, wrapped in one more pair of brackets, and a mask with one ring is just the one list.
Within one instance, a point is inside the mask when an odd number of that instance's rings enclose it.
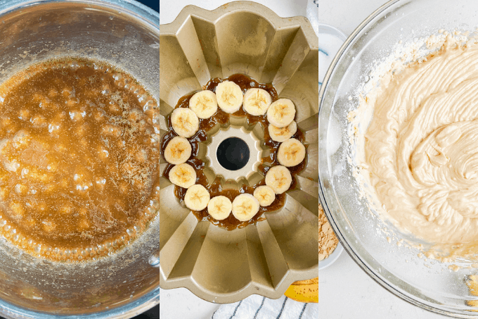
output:
{"label": "creamy beige swirled batter in the clear glass bowl", "polygon": [[448,37],[389,77],[364,101],[374,110],[364,147],[378,198],[427,242],[477,241],[478,45]]}

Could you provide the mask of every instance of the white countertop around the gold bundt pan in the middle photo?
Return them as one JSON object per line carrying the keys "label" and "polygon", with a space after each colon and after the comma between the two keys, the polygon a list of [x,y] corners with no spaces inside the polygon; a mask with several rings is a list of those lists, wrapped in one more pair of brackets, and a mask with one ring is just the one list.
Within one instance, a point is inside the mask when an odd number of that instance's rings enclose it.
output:
{"label": "white countertop around the gold bundt pan in the middle photo", "polygon": [[[181,12],[181,9],[188,4],[194,4],[207,10],[214,10],[218,6],[222,6],[228,2],[231,2],[231,0],[163,0],[160,1],[160,23],[172,23],[179,12]],[[257,0],[254,2],[264,4],[284,18],[295,15],[306,15],[307,0]],[[161,290],[160,294],[161,319],[210,319],[212,313],[219,307],[217,304],[210,304],[207,301],[199,299],[187,289],[183,288]]]}

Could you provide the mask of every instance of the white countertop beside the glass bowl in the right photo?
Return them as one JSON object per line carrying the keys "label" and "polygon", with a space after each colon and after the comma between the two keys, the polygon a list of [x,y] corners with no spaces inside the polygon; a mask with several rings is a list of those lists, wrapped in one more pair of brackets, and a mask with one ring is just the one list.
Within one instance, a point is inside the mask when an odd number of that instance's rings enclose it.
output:
{"label": "white countertop beside the glass bowl in the right photo", "polygon": [[[347,37],[384,0],[318,0],[319,23],[327,23],[345,33]],[[320,43],[319,43],[320,44]],[[354,319],[441,319],[399,299],[377,284],[344,251],[333,265],[319,270],[318,300],[322,318]]]}

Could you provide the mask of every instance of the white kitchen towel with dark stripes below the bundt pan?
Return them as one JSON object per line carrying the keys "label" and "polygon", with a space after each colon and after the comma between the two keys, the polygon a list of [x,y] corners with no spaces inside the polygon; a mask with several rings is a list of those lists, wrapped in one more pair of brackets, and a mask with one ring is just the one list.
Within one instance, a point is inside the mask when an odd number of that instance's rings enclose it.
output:
{"label": "white kitchen towel with dark stripes below the bundt pan", "polygon": [[316,319],[318,304],[303,304],[282,296],[273,300],[252,295],[235,304],[220,306],[211,319]]}

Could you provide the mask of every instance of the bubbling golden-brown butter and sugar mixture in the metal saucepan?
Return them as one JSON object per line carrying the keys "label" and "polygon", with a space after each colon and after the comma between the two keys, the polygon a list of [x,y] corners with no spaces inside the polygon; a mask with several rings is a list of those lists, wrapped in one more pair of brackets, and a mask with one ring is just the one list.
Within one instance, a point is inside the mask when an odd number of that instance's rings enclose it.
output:
{"label": "bubbling golden-brown butter and sugar mixture in the metal saucepan", "polygon": [[47,61],[0,87],[0,234],[53,261],[113,254],[159,206],[157,104],[129,75]]}

